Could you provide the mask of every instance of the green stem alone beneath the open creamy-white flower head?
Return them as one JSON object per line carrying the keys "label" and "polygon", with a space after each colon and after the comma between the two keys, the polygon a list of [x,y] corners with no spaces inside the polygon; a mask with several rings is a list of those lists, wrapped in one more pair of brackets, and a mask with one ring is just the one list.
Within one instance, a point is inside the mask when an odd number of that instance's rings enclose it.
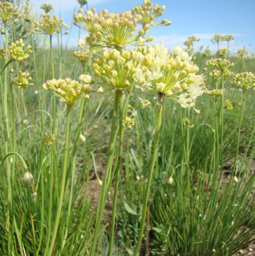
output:
{"label": "green stem alone beneath the open creamy-white flower head", "polygon": [[[163,95],[159,94],[159,97],[162,97],[162,100],[164,100],[164,94]],[[143,213],[142,213],[142,216],[141,216],[141,226],[140,226],[137,245],[136,245],[136,248],[135,248],[135,253],[133,254],[134,256],[138,255],[139,250],[140,250],[140,246],[141,246],[141,241],[143,240],[147,204],[148,204],[148,199],[149,199],[149,190],[150,190],[149,188],[151,186],[153,170],[154,170],[154,166],[155,166],[157,155],[158,155],[158,142],[160,141],[160,127],[161,127],[162,110],[163,110],[163,102],[161,102],[161,104],[158,108],[156,134],[155,134],[155,141],[154,141],[155,142],[154,152],[153,152],[153,156],[152,156],[151,166],[149,168],[147,187],[146,187],[144,200],[143,200]]]}

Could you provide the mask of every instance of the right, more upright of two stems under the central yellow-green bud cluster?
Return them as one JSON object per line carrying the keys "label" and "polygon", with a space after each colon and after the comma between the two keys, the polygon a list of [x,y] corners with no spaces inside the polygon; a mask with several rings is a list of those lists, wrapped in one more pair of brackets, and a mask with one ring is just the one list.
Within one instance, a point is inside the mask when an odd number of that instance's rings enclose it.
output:
{"label": "right, more upright of two stems under the central yellow-green bud cluster", "polygon": [[118,93],[119,101],[119,149],[118,149],[118,163],[115,175],[115,186],[114,186],[114,198],[112,200],[112,216],[111,216],[111,232],[110,232],[110,244],[108,249],[108,256],[111,255],[112,245],[114,243],[114,226],[115,226],[115,216],[116,216],[116,205],[117,205],[117,195],[118,186],[120,179],[120,170],[122,169],[121,158],[122,158],[122,147],[123,147],[123,92]]}

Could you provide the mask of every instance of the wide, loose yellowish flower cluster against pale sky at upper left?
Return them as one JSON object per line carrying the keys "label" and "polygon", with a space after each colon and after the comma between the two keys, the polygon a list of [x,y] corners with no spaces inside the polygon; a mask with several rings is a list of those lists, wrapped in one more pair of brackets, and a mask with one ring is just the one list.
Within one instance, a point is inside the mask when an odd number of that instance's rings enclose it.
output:
{"label": "wide, loose yellowish flower cluster against pale sky at upper left", "polygon": [[69,26],[62,19],[59,19],[57,15],[51,17],[51,14],[48,13],[43,14],[43,19],[40,22],[35,21],[34,28],[36,32],[45,35],[55,35],[61,31],[69,30]]}

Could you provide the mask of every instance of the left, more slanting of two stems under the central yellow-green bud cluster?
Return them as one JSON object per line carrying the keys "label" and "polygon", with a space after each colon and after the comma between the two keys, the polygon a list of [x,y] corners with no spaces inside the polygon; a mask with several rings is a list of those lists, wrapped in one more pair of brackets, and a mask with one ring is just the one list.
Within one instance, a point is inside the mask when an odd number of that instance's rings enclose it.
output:
{"label": "left, more slanting of two stems under the central yellow-green bud cluster", "polygon": [[94,237],[93,237],[93,243],[91,246],[91,250],[89,252],[90,256],[94,256],[95,253],[95,245],[97,244],[97,238],[99,234],[99,228],[101,225],[101,220],[103,216],[103,209],[105,205],[105,194],[107,192],[107,180],[111,176],[111,167],[112,167],[112,160],[114,157],[114,137],[115,137],[115,126],[116,126],[116,115],[117,115],[117,109],[118,109],[118,90],[115,91],[115,97],[114,97],[114,108],[112,112],[112,121],[111,121],[111,134],[110,134],[110,143],[109,143],[109,151],[108,151],[108,157],[107,157],[107,164],[106,164],[106,171],[104,173],[103,177],[103,184],[102,188],[99,194],[98,199],[98,208],[97,208],[97,216],[96,216],[96,223],[95,223],[95,229],[94,229]]}

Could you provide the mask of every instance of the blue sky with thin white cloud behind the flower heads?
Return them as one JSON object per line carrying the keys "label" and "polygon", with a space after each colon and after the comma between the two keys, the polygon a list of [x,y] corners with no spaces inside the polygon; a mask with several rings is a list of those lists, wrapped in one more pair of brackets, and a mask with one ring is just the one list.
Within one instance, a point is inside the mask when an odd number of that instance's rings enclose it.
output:
{"label": "blue sky with thin white cloud behind the flower heads", "polygon": [[[70,25],[74,10],[79,7],[76,0],[30,0],[37,13],[42,3],[51,3],[56,15],[61,15],[65,23]],[[255,0],[158,0],[152,1],[158,5],[165,5],[162,18],[172,21],[170,26],[154,27],[150,34],[154,36],[154,43],[164,44],[168,48],[176,45],[183,46],[182,42],[189,35],[196,35],[200,41],[195,48],[210,46],[215,50],[216,45],[211,43],[211,36],[220,34],[233,34],[235,40],[230,43],[232,52],[241,47],[255,49]],[[89,8],[95,7],[97,11],[108,9],[109,12],[119,13],[132,10],[133,6],[140,5],[143,0],[89,0]],[[84,6],[83,9],[86,7]],[[82,31],[85,33],[85,31]],[[56,39],[55,39],[56,40]],[[69,46],[75,47],[78,41],[78,28],[73,26],[70,34]],[[56,41],[55,41],[56,42]],[[152,42],[152,43],[153,43]],[[226,47],[225,44],[221,44]]]}

